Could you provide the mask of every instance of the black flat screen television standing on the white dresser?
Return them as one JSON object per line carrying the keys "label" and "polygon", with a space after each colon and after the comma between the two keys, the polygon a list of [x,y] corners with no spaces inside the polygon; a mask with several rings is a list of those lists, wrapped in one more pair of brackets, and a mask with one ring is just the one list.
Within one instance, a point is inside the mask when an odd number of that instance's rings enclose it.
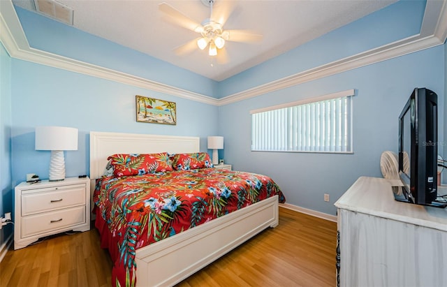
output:
{"label": "black flat screen television standing on the white dresser", "polygon": [[399,175],[396,200],[445,207],[437,202],[437,94],[416,88],[399,116]]}

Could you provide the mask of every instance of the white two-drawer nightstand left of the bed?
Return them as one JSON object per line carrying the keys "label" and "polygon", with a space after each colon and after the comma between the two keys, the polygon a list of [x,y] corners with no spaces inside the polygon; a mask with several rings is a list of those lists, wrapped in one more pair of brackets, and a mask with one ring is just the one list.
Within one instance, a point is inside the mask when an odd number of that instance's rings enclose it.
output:
{"label": "white two-drawer nightstand left of the bed", "polygon": [[14,249],[68,230],[90,230],[90,179],[15,186]]}

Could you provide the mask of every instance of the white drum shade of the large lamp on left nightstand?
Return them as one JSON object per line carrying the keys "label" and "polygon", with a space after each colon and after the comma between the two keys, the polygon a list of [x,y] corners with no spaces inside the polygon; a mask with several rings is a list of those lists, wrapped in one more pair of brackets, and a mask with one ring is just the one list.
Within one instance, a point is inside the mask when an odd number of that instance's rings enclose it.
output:
{"label": "white drum shade of the large lamp on left nightstand", "polygon": [[78,128],[36,126],[36,150],[78,150]]}

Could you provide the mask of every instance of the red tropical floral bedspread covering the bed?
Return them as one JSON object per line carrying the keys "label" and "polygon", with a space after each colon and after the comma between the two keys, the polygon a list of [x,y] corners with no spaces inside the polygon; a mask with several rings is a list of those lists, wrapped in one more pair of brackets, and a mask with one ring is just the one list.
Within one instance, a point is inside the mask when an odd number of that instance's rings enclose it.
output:
{"label": "red tropical floral bedspread covering the bed", "polygon": [[270,177],[214,168],[98,179],[96,227],[114,262],[112,286],[135,286],[136,249],[275,195],[285,202]]}

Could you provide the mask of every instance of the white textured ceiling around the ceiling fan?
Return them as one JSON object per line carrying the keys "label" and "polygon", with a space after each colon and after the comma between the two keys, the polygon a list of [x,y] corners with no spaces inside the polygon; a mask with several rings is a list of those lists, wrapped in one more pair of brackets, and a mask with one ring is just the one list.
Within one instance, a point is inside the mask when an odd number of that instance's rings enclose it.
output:
{"label": "white textured ceiling around the ceiling fan", "polygon": [[[159,10],[161,0],[58,2],[73,8],[75,28],[221,81],[358,20],[395,0],[217,0],[214,15],[233,6],[233,13],[230,13],[223,29],[248,29],[263,35],[259,43],[227,41],[224,47],[228,59],[226,64],[212,59],[206,49],[194,49],[180,56],[175,54],[175,47],[197,38],[199,34],[174,24]],[[198,23],[210,17],[210,8],[200,0],[164,2]],[[33,0],[13,0],[13,3],[35,10]]]}

